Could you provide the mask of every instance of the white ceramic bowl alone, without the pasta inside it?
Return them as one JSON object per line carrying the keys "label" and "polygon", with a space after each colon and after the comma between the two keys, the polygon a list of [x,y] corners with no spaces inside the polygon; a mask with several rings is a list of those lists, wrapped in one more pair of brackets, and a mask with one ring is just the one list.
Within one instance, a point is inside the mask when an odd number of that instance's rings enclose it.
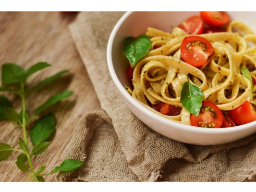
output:
{"label": "white ceramic bowl alone, without the pasta inside it", "polygon": [[[107,61],[112,80],[123,97],[126,105],[147,126],[171,139],[200,145],[224,144],[242,139],[256,132],[256,121],[221,129],[210,129],[183,125],[165,119],[145,108],[124,89],[128,84],[126,69],[127,59],[124,57],[123,42],[128,36],[137,37],[146,33],[147,27],[155,27],[170,31],[191,15],[199,12],[126,12],[115,25],[108,42]],[[256,31],[256,12],[229,12],[232,20],[248,24]]]}

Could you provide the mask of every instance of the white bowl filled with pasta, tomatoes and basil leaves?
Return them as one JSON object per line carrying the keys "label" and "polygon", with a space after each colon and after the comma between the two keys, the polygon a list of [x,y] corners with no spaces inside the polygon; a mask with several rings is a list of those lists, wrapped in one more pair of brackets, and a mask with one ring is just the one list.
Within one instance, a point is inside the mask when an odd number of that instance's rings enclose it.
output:
{"label": "white bowl filled with pasta, tomatoes and basil leaves", "polygon": [[184,143],[222,144],[256,132],[251,14],[126,13],[107,58],[127,106],[153,130]]}

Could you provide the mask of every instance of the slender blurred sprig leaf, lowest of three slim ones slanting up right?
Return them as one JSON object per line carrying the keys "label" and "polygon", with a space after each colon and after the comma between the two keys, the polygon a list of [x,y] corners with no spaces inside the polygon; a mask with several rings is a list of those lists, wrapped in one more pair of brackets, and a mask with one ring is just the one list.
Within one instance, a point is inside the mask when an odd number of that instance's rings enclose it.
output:
{"label": "slender blurred sprig leaf, lowest of three slim ones slanting up right", "polygon": [[69,96],[71,96],[73,94],[73,91],[63,91],[60,94],[57,94],[55,96],[50,97],[43,105],[39,106],[36,110],[35,110],[35,115],[40,114],[41,112],[43,112],[45,109],[49,108],[50,106],[52,106],[53,104],[57,103],[58,101],[60,101],[61,99],[67,98]]}

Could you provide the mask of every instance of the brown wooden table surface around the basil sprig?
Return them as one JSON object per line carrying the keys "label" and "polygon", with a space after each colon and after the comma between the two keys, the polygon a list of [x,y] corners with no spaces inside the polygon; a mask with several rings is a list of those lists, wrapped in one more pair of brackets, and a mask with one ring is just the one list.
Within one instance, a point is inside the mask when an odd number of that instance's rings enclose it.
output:
{"label": "brown wooden table surface around the basil sprig", "polygon": [[[46,164],[46,171],[51,171],[55,166],[60,165],[62,155],[68,147],[80,117],[88,111],[100,108],[92,83],[68,29],[76,16],[62,12],[0,12],[0,66],[12,62],[27,69],[39,61],[52,64],[51,67],[31,76],[28,79],[28,87],[56,72],[70,69],[70,75],[27,98],[26,108],[32,113],[49,96],[63,90],[74,91],[73,96],[51,108],[56,118],[57,131],[47,151],[32,158],[35,169]],[[12,101],[14,108],[20,110],[19,96],[4,95]],[[0,121],[0,143],[18,148],[19,137],[23,138],[21,128],[15,127],[8,121]],[[17,156],[18,153],[14,152],[8,160],[0,162],[0,181],[25,181],[27,174],[20,171],[15,164]],[[45,180],[55,181],[55,175],[49,175]]]}

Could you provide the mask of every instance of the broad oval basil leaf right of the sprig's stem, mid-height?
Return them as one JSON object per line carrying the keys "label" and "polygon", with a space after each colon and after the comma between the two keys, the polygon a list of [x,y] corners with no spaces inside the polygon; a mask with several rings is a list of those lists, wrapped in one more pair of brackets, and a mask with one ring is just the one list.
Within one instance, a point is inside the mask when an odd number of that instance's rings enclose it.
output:
{"label": "broad oval basil leaf right of the sprig's stem, mid-height", "polygon": [[32,143],[37,145],[48,139],[56,130],[55,126],[54,116],[51,113],[37,120],[29,132]]}

